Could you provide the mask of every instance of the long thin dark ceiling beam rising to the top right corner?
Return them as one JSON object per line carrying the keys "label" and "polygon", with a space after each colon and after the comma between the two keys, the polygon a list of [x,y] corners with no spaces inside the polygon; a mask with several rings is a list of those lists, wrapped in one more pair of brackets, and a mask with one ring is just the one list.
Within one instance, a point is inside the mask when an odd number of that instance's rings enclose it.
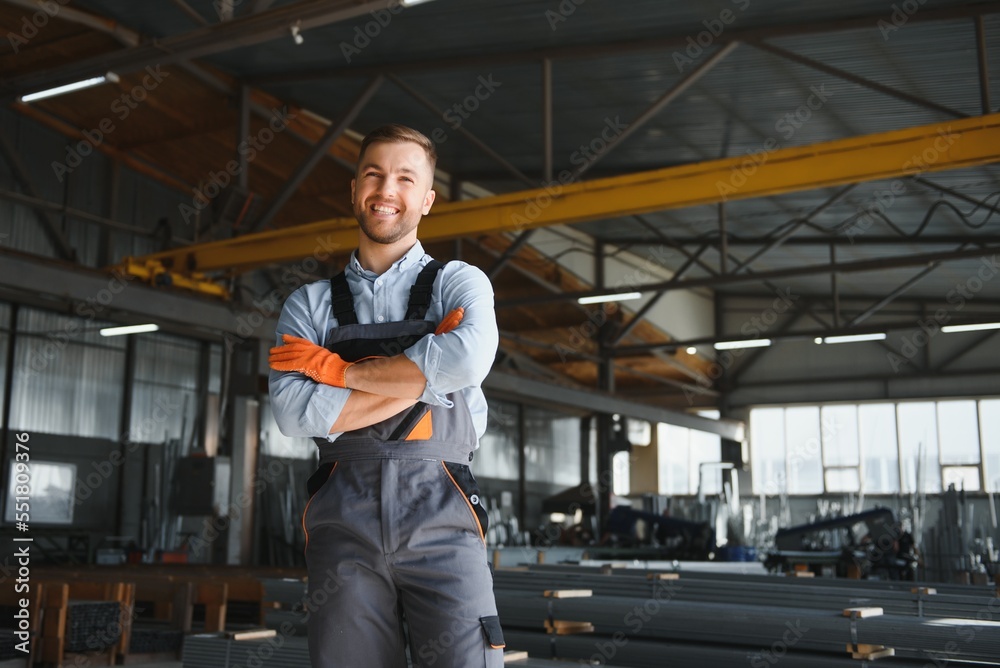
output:
{"label": "long thin dark ceiling beam rising to the top right corner", "polygon": [[[958,7],[931,8],[921,7],[907,17],[907,24],[932,23],[935,21],[950,21],[953,19],[970,18],[979,15],[1000,12],[1000,2],[983,2]],[[737,42],[760,41],[792,35],[811,35],[818,33],[835,33],[846,30],[874,30],[880,20],[885,20],[887,14],[884,8],[876,13],[859,15],[850,19],[815,21],[781,26],[766,26],[760,28],[728,28],[726,38]],[[272,72],[253,77],[255,84],[288,83],[290,81],[313,81],[331,77],[358,77],[387,74],[390,72],[422,72],[426,70],[470,69],[482,67],[499,67],[537,63],[543,58],[553,60],[595,58],[613,56],[623,53],[658,52],[669,53],[686,47],[690,37],[688,32],[665,37],[646,39],[625,39],[620,41],[574,44],[548,48],[522,49],[520,51],[499,51],[482,55],[467,55],[462,58],[442,57],[428,59],[407,59],[404,61],[383,62],[373,65],[344,65],[340,67],[322,67],[303,71],[286,70]]]}

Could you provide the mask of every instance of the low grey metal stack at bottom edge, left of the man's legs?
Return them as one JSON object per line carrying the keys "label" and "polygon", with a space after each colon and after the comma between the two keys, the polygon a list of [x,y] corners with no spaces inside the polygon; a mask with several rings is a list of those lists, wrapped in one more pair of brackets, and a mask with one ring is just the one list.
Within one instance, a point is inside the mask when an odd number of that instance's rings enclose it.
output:
{"label": "low grey metal stack at bottom edge, left of the man's legs", "polygon": [[309,668],[305,638],[277,635],[261,640],[232,640],[217,633],[184,639],[184,668]]}

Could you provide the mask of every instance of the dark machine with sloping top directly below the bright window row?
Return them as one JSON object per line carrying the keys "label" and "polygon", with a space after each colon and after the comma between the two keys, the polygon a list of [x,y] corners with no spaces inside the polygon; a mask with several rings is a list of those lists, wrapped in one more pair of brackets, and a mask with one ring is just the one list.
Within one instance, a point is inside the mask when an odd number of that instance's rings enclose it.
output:
{"label": "dark machine with sloping top directly below the bright window row", "polygon": [[913,535],[888,508],[779,529],[765,561],[771,571],[878,580],[915,580],[918,563]]}

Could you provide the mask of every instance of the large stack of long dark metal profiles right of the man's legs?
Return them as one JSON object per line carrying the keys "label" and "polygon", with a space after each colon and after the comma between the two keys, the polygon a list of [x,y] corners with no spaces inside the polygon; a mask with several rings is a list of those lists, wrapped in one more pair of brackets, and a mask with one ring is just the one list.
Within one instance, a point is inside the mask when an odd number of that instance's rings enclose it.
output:
{"label": "large stack of long dark metal profiles right of the man's legs", "polygon": [[[867,646],[861,655],[892,648],[897,658],[883,659],[883,665],[908,665],[905,660],[924,665],[940,657],[949,665],[1000,665],[1000,599],[985,587],[647,575],[653,574],[626,570],[605,575],[600,569],[573,567],[498,570],[494,589],[509,646],[534,649],[542,657],[623,666],[660,665],[656,659],[662,662],[674,652],[712,666],[766,666],[786,654],[798,657],[798,665],[819,666],[824,660],[830,663],[822,665],[848,665],[848,645]],[[941,593],[929,594],[925,587]],[[588,589],[593,596],[542,596],[551,589]],[[844,616],[845,608],[857,607],[882,608],[885,614]],[[543,635],[547,620],[589,622],[594,633]],[[651,654],[644,658],[647,651]]]}

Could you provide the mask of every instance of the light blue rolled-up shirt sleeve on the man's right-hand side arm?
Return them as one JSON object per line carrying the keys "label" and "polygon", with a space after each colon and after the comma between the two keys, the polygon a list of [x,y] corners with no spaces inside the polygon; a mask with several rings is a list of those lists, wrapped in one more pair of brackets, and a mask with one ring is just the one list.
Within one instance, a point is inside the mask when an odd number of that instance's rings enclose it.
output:
{"label": "light blue rolled-up shirt sleeve on the man's right-hand side arm", "polygon": [[462,322],[447,334],[423,337],[405,352],[427,380],[420,401],[449,408],[448,394],[482,385],[499,344],[489,278],[476,267],[454,264],[454,275],[442,276],[441,302],[445,314],[463,307]]}

